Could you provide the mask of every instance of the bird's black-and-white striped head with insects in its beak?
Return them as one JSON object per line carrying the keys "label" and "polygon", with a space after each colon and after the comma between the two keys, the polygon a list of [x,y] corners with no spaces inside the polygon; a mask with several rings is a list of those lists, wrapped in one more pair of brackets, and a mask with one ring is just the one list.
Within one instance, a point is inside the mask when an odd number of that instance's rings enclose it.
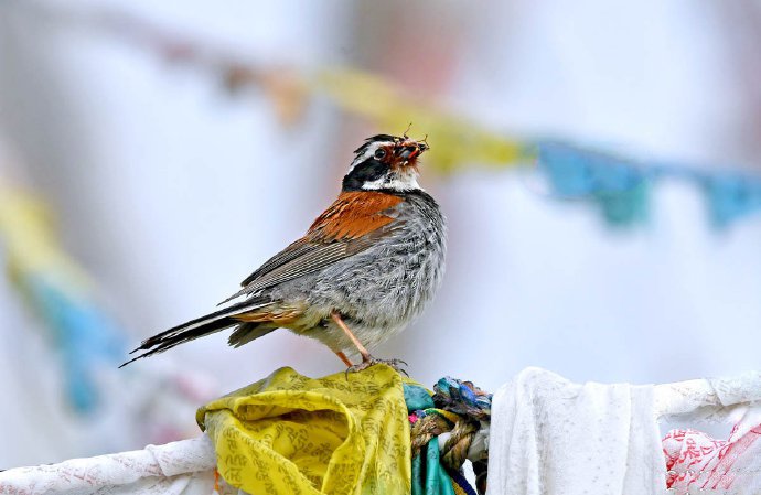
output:
{"label": "bird's black-and-white striped head with insects in its beak", "polygon": [[343,191],[419,190],[418,157],[428,143],[407,136],[377,134],[367,138],[343,177]]}

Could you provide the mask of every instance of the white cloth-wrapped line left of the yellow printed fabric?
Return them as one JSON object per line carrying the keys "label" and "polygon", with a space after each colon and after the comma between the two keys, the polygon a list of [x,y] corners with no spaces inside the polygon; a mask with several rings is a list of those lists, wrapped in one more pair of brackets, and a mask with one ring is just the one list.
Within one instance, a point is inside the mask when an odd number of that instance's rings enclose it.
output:
{"label": "white cloth-wrapped line left of the yellow printed fabric", "polygon": [[143,450],[0,472],[2,495],[171,494],[214,491],[216,454],[206,435]]}

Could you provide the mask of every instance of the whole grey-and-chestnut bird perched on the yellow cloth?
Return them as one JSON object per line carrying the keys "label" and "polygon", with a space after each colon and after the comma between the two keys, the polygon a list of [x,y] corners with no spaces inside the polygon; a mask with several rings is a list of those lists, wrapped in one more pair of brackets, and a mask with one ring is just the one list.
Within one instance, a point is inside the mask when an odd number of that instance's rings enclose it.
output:
{"label": "whole grey-and-chestnut bird perched on the yellow cloth", "polygon": [[[406,133],[366,139],[337,200],[222,304],[245,300],[148,338],[132,351],[146,352],[122,366],[231,326],[235,347],[285,327],[319,340],[351,370],[398,366],[367,347],[403,330],[441,282],[444,218],[417,181],[418,157],[428,148]],[[344,351],[352,349],[362,363],[349,361]]]}

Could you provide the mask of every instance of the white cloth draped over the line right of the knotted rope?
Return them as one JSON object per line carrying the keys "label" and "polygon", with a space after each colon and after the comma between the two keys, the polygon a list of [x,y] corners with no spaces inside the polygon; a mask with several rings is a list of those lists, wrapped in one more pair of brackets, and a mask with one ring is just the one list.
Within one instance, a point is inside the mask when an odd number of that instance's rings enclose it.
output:
{"label": "white cloth draped over the line right of the knotted rope", "polygon": [[[658,419],[689,415],[716,422],[732,419],[735,411],[747,417],[749,403],[759,399],[759,373],[633,386],[578,385],[527,368],[492,401],[489,494],[673,494],[666,488]],[[743,460],[746,471],[749,464],[759,470],[761,460],[754,459]]]}

